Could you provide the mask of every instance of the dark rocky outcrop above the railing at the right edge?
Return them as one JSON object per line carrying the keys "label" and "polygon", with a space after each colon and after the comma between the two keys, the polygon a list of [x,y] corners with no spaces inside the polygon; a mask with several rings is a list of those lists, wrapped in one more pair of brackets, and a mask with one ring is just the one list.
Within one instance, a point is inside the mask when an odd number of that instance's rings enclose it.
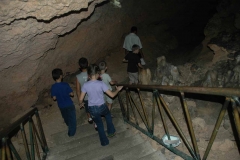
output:
{"label": "dark rocky outcrop above the railing at the right edge", "polygon": [[177,66],[185,79],[184,85],[240,86],[239,7],[240,1],[235,0],[222,0],[216,7],[217,13],[204,29],[205,39],[189,53],[196,56],[188,64]]}

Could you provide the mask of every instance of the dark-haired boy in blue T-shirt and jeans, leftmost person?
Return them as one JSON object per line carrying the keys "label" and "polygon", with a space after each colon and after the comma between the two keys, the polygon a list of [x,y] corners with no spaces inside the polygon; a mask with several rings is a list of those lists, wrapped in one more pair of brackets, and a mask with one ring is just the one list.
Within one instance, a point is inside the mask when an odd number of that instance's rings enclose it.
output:
{"label": "dark-haired boy in blue T-shirt and jeans, leftmost person", "polygon": [[73,91],[68,83],[62,82],[63,72],[61,69],[54,69],[52,77],[56,83],[52,85],[51,96],[54,101],[57,100],[64,122],[68,126],[68,136],[74,136],[77,123],[75,106],[70,98],[70,96],[74,96]]}

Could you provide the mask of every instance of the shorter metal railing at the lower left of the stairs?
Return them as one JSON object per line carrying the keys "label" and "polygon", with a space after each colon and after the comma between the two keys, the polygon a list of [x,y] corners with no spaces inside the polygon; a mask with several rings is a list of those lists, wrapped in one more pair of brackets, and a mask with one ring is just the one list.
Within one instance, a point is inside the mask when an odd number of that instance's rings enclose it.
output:
{"label": "shorter metal railing at the lower left of the stairs", "polygon": [[[36,117],[36,125],[34,124],[33,117]],[[25,125],[29,123],[29,139],[27,139],[27,134],[25,132]],[[21,118],[15,121],[11,126],[4,129],[0,132],[0,138],[2,140],[1,145],[1,158],[2,160],[12,160],[23,159],[23,155],[20,155],[16,148],[14,147],[13,143],[11,142],[11,138],[21,131],[23,144],[25,148],[26,157],[24,159],[27,160],[35,160],[38,158],[39,160],[45,160],[47,157],[47,153],[49,151],[46,138],[43,132],[42,123],[38,114],[38,109],[33,108],[30,109],[26,114],[24,114]],[[30,146],[30,150],[29,150]],[[41,149],[40,149],[41,148]],[[40,154],[40,151],[42,154]],[[35,155],[35,152],[37,153]],[[14,155],[14,157],[13,157]]]}

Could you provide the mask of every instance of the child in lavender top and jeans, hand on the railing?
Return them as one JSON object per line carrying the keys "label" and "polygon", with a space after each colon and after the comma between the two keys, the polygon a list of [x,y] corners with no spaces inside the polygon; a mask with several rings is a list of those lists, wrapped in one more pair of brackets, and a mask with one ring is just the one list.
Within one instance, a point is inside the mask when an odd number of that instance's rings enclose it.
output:
{"label": "child in lavender top and jeans, hand on the railing", "polygon": [[87,93],[89,113],[97,125],[101,145],[106,146],[109,144],[109,140],[105,134],[101,116],[104,116],[106,119],[108,137],[114,136],[116,130],[112,123],[111,113],[104,101],[104,92],[110,97],[115,97],[123,86],[116,87],[116,91],[114,92],[110,91],[104,82],[97,80],[100,75],[100,69],[96,64],[90,65],[87,72],[90,80],[84,83],[81,89],[79,105],[80,107],[84,105],[83,99]]}

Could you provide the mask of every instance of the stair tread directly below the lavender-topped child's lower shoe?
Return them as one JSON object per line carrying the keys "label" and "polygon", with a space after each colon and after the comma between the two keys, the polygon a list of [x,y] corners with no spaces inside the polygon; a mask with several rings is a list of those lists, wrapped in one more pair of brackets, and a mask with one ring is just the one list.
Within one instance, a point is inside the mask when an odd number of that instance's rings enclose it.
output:
{"label": "stair tread directly below the lavender-topped child's lower shoe", "polygon": [[[143,138],[136,134],[131,137],[127,137],[122,140],[118,140],[113,142],[115,137],[109,139],[110,144],[105,147],[98,147],[96,150],[92,150],[92,152],[86,152],[83,154],[76,155],[75,157],[69,158],[68,160],[98,160],[103,159],[107,156],[110,156],[114,153],[117,153],[120,150],[131,148],[134,145],[138,145],[142,142],[144,142]],[[100,145],[100,144],[99,144]],[[94,153],[94,154],[93,154]]]}

